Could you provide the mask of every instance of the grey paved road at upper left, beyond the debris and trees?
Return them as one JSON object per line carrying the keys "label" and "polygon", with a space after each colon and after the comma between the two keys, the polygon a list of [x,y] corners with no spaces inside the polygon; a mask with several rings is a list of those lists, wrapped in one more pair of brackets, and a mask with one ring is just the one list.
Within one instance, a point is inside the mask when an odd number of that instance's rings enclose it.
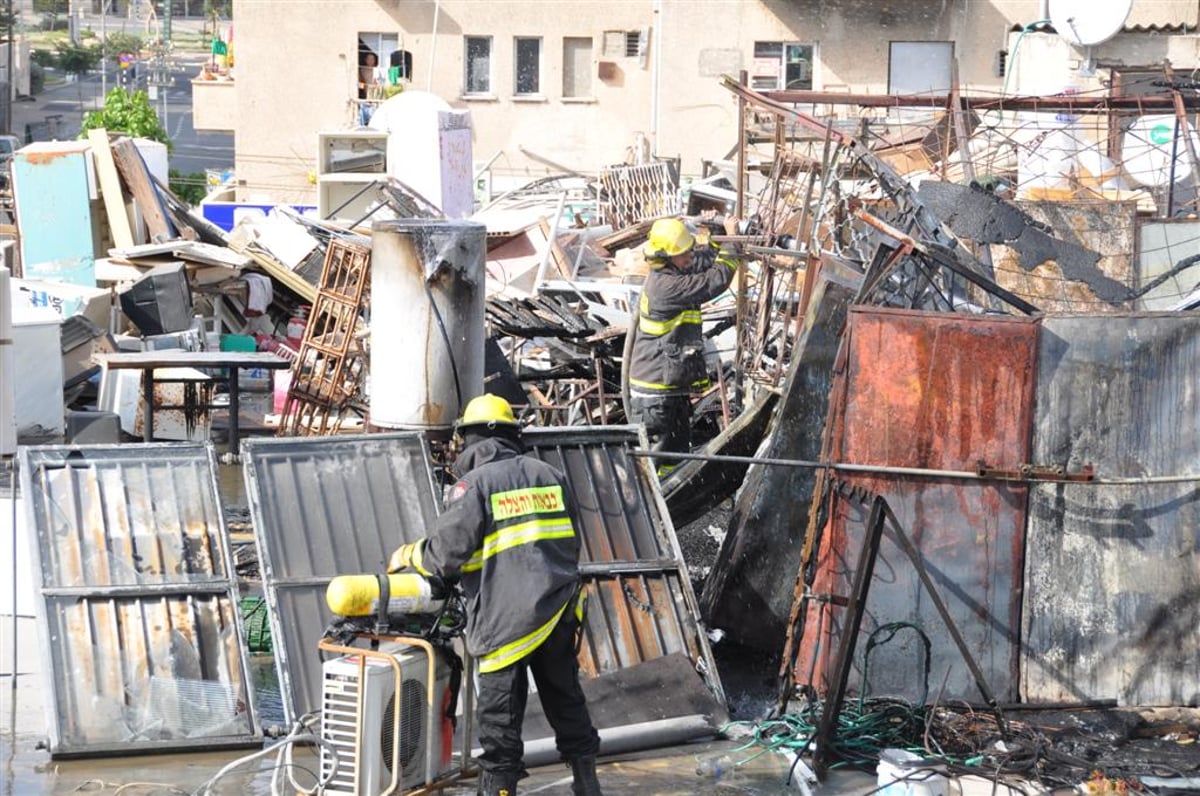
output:
{"label": "grey paved road at upper left, beyond the debris and trees", "polygon": [[[233,136],[228,133],[196,132],[192,127],[192,83],[204,55],[180,55],[173,59],[173,85],[158,89],[163,94],[152,101],[158,118],[166,116],[167,132],[173,149],[170,168],[184,174],[204,172],[208,168],[233,168]],[[55,82],[32,101],[13,103],[13,132],[25,138],[26,125],[35,140],[72,139],[79,134],[83,114],[103,104],[100,73],[89,74],[79,82]],[[114,88],[115,76],[109,76],[108,89]]]}

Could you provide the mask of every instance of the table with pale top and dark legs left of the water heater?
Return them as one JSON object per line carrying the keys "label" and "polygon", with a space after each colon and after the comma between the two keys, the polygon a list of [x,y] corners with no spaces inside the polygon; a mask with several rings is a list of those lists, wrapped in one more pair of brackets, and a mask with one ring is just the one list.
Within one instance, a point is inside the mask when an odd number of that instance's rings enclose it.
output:
{"label": "table with pale top and dark legs left of the water heater", "polygon": [[[292,367],[290,360],[283,359],[270,352],[238,352],[238,351],[138,351],[115,354],[97,354],[97,361],[108,370],[140,370],[142,371],[142,406],[143,425],[142,437],[145,442],[154,439],[154,412],[155,403],[155,370],[160,367],[198,367],[218,373],[214,378],[224,381],[229,385],[229,453],[238,455],[239,450],[239,419],[240,388],[238,373],[242,369],[284,370]],[[215,408],[212,405],[193,408]],[[179,407],[172,407],[179,408]]]}

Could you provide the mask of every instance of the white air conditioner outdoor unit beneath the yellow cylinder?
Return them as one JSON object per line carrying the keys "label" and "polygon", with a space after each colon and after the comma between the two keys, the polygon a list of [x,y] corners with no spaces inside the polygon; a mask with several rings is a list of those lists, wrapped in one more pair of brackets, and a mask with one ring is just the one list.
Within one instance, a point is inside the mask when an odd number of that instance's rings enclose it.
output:
{"label": "white air conditioner outdoor unit beneath the yellow cylinder", "polygon": [[392,755],[397,747],[401,792],[424,785],[431,764],[431,780],[451,770],[454,725],[445,716],[451,696],[449,666],[437,656],[434,704],[431,706],[425,650],[385,644],[379,652],[398,663],[400,682],[391,664],[374,654],[367,656],[361,678],[359,656],[335,658],[322,668],[320,736],[337,750],[336,760],[325,747],[320,750],[320,776],[323,780],[329,777],[325,794],[376,796],[383,792],[391,784]]}

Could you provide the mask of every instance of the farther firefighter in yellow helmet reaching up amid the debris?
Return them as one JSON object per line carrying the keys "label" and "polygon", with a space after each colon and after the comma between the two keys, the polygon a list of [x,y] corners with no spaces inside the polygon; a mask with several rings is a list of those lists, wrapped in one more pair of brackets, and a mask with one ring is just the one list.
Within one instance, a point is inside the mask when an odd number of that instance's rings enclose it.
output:
{"label": "farther firefighter in yellow helmet reaching up amid the debris", "polygon": [[[725,219],[736,235],[739,220]],[[696,238],[678,219],[659,219],[642,246],[650,273],[637,305],[637,330],[629,361],[630,420],[646,425],[655,450],[691,448],[691,394],[708,389],[700,306],[728,288],[739,247],[715,244],[696,250]],[[659,463],[659,477],[676,462]]]}

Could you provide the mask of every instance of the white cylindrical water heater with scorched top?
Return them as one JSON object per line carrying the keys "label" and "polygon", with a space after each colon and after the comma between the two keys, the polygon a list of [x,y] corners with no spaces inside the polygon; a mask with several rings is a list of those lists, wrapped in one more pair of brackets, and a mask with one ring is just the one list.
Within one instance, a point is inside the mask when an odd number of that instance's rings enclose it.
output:
{"label": "white cylindrical water heater with scorched top", "polygon": [[486,251],[472,221],[372,225],[372,425],[451,429],[484,391]]}

